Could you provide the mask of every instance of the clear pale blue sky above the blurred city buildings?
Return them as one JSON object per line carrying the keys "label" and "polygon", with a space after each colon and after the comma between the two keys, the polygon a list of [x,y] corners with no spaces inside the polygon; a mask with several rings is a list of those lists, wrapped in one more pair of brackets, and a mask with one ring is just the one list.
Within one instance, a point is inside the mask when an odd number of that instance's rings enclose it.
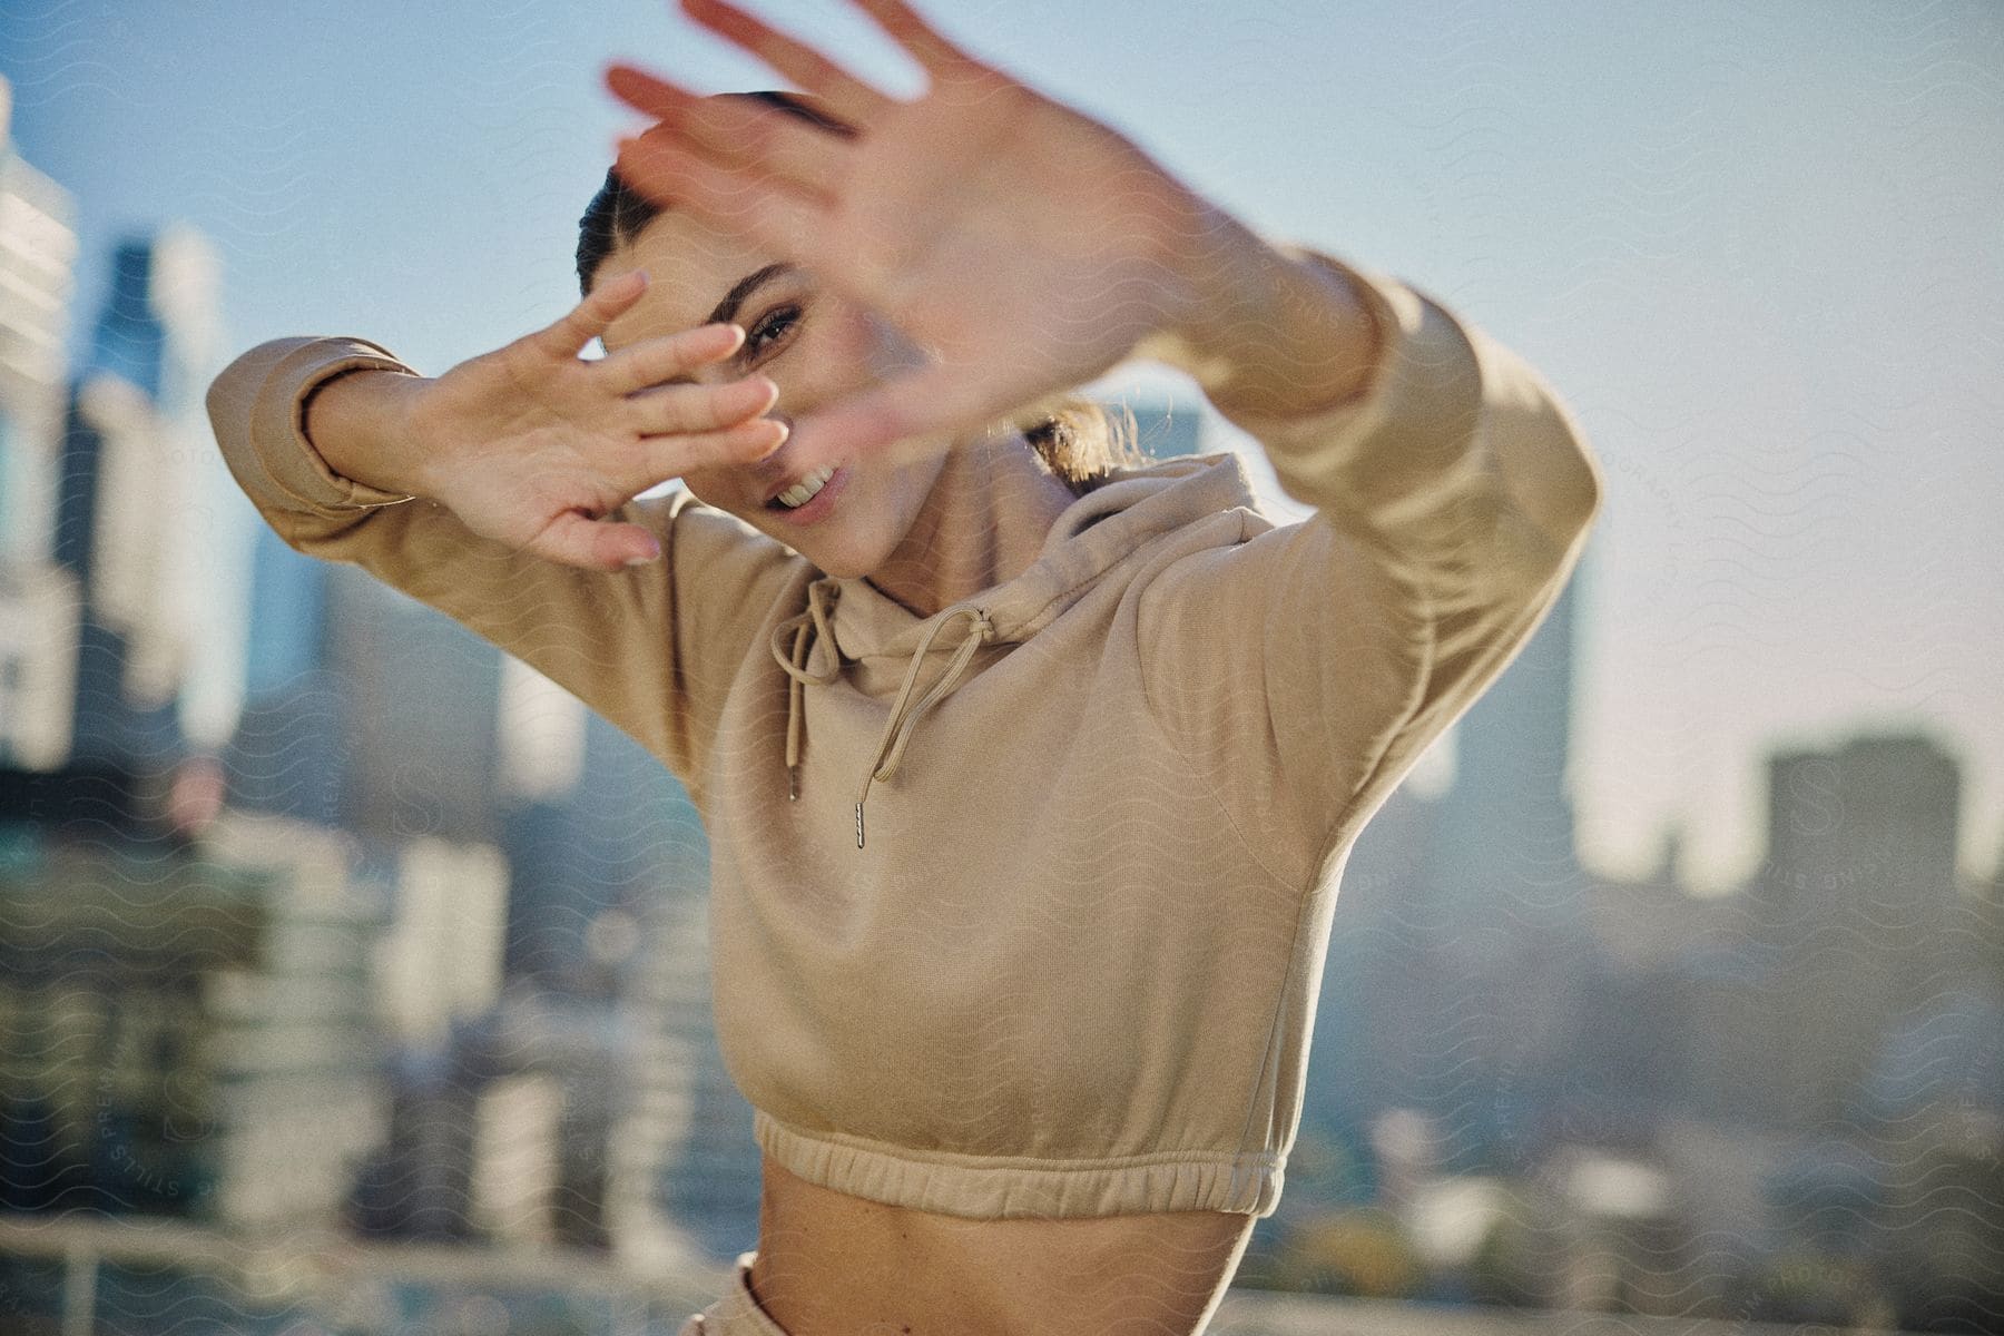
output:
{"label": "clear pale blue sky above the blurred city buildings", "polygon": [[[754,8],[912,86],[838,0]],[[1948,741],[1964,861],[2004,853],[2004,6],[924,8],[1559,387],[1609,479],[1579,701],[1597,865],[1681,815],[1725,883],[1758,851],[1758,757],[1874,725]],[[220,252],[228,353],[355,332],[431,373],[573,300],[627,124],[615,54],[774,84],[651,0],[14,0],[0,32],[16,138],[78,196],[80,314],[116,236],[178,218]]]}

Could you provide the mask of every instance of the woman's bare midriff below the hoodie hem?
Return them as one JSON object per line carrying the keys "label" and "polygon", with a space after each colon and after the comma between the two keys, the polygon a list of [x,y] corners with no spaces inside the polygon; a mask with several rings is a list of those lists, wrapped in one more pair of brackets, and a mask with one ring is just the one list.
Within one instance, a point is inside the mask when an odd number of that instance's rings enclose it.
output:
{"label": "woman's bare midriff below the hoodie hem", "polygon": [[966,1220],[832,1192],[766,1160],[752,1288],[788,1336],[1186,1336],[1255,1218]]}

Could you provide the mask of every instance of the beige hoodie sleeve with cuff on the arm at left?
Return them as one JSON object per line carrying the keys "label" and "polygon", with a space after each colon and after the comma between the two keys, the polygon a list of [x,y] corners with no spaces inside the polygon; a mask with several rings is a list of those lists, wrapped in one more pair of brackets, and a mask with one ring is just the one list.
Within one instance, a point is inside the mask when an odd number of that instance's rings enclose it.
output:
{"label": "beige hoodie sleeve with cuff on the arm at left", "polygon": [[659,561],[627,571],[479,537],[435,501],[341,477],[307,441],[307,399],[355,369],[415,375],[361,339],[279,339],[208,389],[216,445],[265,523],[287,547],[357,565],[515,655],[693,789],[723,693],[798,559],[679,489],[615,511],[661,539]]}

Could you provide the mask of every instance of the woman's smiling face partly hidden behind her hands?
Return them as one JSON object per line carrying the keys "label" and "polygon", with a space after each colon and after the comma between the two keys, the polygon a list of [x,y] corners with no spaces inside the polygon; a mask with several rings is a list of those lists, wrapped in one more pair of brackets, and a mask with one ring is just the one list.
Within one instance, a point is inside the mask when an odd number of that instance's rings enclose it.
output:
{"label": "woman's smiling face partly hidden behind her hands", "polygon": [[[599,264],[593,284],[633,268],[647,270],[647,292],[605,330],[605,351],[709,320],[735,322],[745,330],[737,353],[691,379],[715,385],[764,375],[780,387],[770,417],[788,423],[922,361],[892,326],[822,290],[812,272],[790,266],[786,256],[675,210],[619,244]],[[792,441],[758,463],[691,469],[681,481],[697,501],[729,511],[828,575],[858,579],[880,569],[910,533],[944,461],[944,453],[928,453],[894,463],[882,451],[842,459],[822,493],[798,511],[768,503],[802,481]]]}

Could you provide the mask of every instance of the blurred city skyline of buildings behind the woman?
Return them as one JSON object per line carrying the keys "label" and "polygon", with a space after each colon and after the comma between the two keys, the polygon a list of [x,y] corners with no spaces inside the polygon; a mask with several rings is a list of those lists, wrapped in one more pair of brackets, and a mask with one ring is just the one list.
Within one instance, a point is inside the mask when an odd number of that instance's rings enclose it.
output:
{"label": "blurred city skyline of buildings behind the woman", "polygon": [[[86,200],[6,128],[8,1330],[665,1336],[760,1218],[693,799],[473,623],[248,515],[200,411],[216,242],[80,248]],[[1156,455],[1214,441],[1188,397],[1136,409]],[[1469,1336],[1998,1330],[2004,861],[1958,877],[1960,747],[1758,745],[1737,893],[1693,897],[1681,837],[1599,875],[1593,571],[1343,863],[1289,1190],[1218,1336],[1443,1302]]]}

